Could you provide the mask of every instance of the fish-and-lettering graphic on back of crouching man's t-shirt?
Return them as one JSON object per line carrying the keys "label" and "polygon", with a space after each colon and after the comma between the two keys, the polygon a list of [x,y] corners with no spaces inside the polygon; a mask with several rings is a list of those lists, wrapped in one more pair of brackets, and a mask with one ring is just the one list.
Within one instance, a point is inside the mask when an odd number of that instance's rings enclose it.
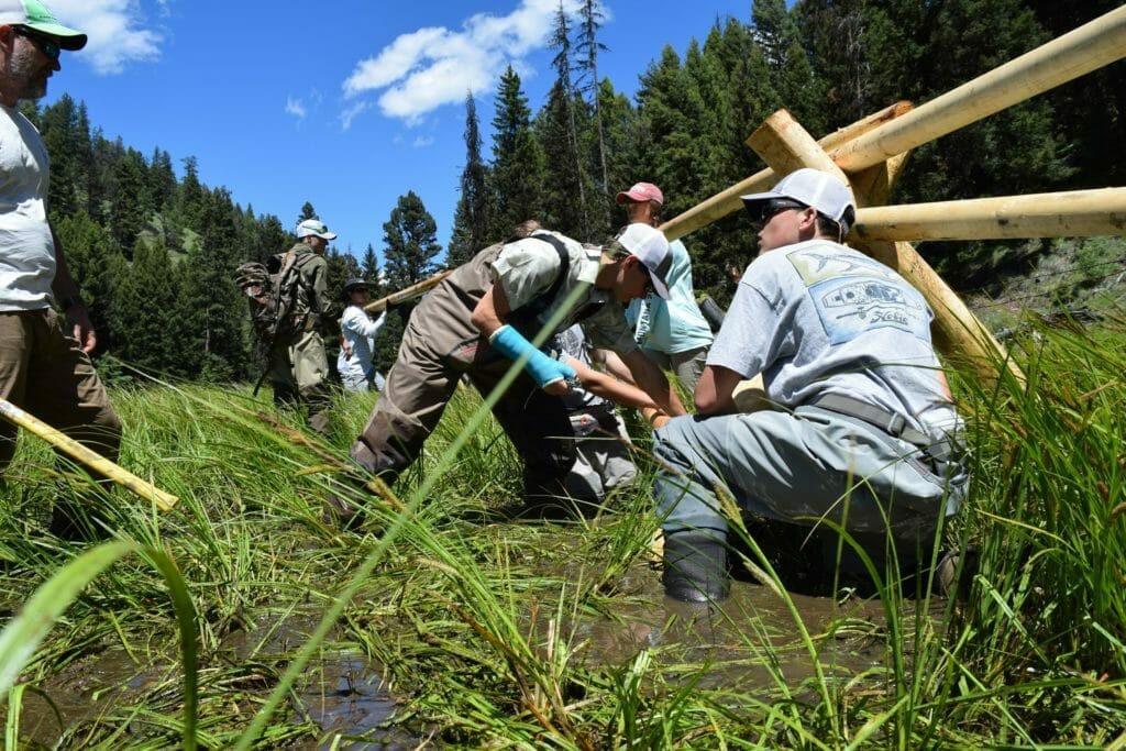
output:
{"label": "fish-and-lettering graphic on back of crouching man's t-shirt", "polygon": [[808,288],[831,343],[885,328],[927,340],[930,314],[926,301],[883,263],[816,249],[796,250],[788,258]]}

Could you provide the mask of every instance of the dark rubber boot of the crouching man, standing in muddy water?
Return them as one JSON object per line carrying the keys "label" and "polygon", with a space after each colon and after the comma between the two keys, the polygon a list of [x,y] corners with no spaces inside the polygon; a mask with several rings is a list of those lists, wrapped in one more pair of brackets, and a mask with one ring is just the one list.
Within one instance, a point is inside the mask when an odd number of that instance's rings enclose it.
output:
{"label": "dark rubber boot of the crouching man, standing in muddy water", "polygon": [[727,598],[727,548],[721,533],[686,529],[664,536],[664,593],[681,602]]}

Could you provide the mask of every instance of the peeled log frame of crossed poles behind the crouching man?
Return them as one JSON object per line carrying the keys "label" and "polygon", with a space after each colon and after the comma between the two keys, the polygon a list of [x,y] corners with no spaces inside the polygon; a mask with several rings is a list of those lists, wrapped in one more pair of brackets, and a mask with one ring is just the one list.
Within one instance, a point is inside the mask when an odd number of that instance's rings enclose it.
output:
{"label": "peeled log frame of crossed poles behind the crouching man", "polygon": [[1126,188],[886,206],[908,154],[935,138],[1126,56],[1126,6],[1119,7],[931,101],[899,102],[814,140],[786,110],[747,140],[768,169],[661,226],[669,240],[742,208],[740,196],[768,190],[812,167],[835,175],[856,199],[850,244],[897,270],[935,311],[933,333],[947,358],[964,358],[980,377],[1008,367],[1004,348],[919,256],[911,241],[1126,234]]}

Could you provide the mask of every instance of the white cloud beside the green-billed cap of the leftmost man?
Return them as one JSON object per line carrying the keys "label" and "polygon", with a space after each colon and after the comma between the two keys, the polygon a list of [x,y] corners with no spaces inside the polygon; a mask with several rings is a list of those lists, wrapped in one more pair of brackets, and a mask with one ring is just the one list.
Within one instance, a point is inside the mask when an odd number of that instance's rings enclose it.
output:
{"label": "white cloud beside the green-billed cap of the leftmost man", "polygon": [[[170,0],[158,0],[167,15]],[[145,28],[140,0],[51,0],[51,11],[89,37],[77,53],[99,73],[120,73],[128,63],[160,56],[164,37]]]}

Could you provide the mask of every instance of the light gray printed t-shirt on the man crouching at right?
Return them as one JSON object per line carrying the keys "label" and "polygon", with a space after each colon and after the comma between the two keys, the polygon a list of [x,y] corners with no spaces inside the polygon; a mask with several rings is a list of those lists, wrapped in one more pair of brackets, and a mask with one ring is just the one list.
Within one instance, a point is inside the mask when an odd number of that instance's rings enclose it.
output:
{"label": "light gray printed t-shirt on the man crouching at right", "polygon": [[708,355],[708,365],[763,376],[767,397],[793,409],[828,394],[914,420],[935,433],[954,413],[939,381],[933,318],[899,274],[829,240],[757,258]]}

